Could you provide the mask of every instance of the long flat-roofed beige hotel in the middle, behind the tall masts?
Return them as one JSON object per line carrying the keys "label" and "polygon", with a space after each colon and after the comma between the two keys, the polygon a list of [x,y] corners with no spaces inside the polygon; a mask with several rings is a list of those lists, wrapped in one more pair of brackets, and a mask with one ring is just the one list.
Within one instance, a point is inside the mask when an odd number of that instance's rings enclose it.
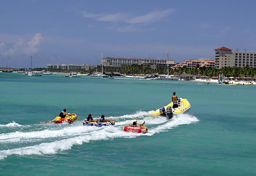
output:
{"label": "long flat-roofed beige hotel in the middle, behind the tall masts", "polygon": [[[175,60],[168,60],[169,66],[176,65]],[[142,58],[111,58],[103,57],[102,65],[105,67],[120,68],[127,65],[143,65],[143,67],[150,65],[150,68],[157,69],[159,67],[167,67],[167,60],[165,59],[142,59]]]}

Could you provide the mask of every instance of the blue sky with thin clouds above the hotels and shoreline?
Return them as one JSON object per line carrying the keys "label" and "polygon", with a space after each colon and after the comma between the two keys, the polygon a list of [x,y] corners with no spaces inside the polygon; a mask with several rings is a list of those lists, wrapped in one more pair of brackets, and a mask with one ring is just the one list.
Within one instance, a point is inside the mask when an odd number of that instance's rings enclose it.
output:
{"label": "blue sky with thin clouds above the hotels and shoreline", "polygon": [[256,52],[255,17],[253,0],[1,0],[0,67]]}

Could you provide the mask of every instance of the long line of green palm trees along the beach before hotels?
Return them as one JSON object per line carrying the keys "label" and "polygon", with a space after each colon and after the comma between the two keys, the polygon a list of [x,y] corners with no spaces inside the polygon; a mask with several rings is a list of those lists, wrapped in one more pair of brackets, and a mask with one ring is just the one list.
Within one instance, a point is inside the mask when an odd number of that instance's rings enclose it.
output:
{"label": "long line of green palm trees along the beach before hotels", "polygon": [[[19,71],[26,71],[27,69],[22,68]],[[29,69],[31,70],[31,69]],[[46,68],[33,68],[32,71],[42,71],[46,70]],[[167,68],[160,67],[157,69],[152,69],[148,65],[147,67],[143,67],[143,65],[128,65],[126,67],[120,68],[112,68],[112,67],[103,67],[104,72],[119,72],[121,74],[126,75],[148,75],[148,74],[159,74],[159,75],[167,75]],[[97,65],[97,68],[89,69],[89,70],[62,70],[62,69],[48,69],[49,72],[80,72],[81,74],[92,73],[92,72],[101,72],[101,65]],[[205,75],[209,77],[217,76],[219,72],[222,72],[222,75],[226,77],[239,77],[244,75],[245,77],[253,77],[256,75],[256,68],[249,67],[248,65],[243,68],[237,67],[224,67],[221,69],[213,68],[213,67],[199,67],[197,65],[195,68],[187,68],[186,66],[181,68],[171,69],[169,68],[169,75],[181,74],[186,72],[191,75]]]}

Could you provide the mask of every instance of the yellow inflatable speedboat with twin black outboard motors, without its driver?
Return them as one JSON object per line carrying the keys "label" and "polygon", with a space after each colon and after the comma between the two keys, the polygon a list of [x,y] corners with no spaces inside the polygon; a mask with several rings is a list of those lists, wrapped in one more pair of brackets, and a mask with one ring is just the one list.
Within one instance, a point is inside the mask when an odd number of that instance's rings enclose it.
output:
{"label": "yellow inflatable speedboat with twin black outboard motors, without its driver", "polygon": [[187,99],[180,98],[178,101],[178,108],[173,108],[173,102],[166,106],[159,108],[151,113],[151,116],[165,116],[171,119],[174,114],[186,113],[189,111],[191,105]]}

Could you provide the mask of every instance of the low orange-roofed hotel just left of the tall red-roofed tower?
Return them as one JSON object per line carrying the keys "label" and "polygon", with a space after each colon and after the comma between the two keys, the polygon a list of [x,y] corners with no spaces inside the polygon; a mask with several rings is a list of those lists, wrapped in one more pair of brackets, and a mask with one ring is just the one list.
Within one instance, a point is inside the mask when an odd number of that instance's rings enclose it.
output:
{"label": "low orange-roofed hotel just left of the tall red-roofed tower", "polygon": [[215,65],[215,60],[210,60],[210,59],[204,59],[204,58],[199,58],[199,59],[191,59],[191,60],[186,60],[183,63],[179,63],[177,65],[174,65],[171,67],[172,69],[174,68],[179,68],[179,67],[184,67],[186,68],[195,68],[199,65],[199,67],[214,67]]}

